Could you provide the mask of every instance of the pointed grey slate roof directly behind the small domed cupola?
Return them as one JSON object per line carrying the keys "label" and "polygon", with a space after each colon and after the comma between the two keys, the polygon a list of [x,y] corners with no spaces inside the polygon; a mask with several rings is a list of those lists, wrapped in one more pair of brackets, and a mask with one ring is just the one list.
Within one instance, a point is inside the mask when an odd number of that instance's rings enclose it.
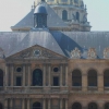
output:
{"label": "pointed grey slate roof directly behind the small domed cupola", "polygon": [[[40,3],[47,10],[47,25],[48,27],[68,27],[68,25],[56,14],[56,12],[45,2]],[[34,27],[34,9],[17,24],[11,28]]]}

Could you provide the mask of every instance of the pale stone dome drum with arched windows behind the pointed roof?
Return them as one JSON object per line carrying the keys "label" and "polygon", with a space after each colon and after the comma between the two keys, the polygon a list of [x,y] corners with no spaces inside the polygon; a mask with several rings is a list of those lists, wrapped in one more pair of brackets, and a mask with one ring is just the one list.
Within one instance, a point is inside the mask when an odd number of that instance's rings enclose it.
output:
{"label": "pale stone dome drum with arched windows behind the pointed roof", "polygon": [[[40,0],[36,0],[37,5]],[[90,31],[83,0],[45,0],[72,31]]]}

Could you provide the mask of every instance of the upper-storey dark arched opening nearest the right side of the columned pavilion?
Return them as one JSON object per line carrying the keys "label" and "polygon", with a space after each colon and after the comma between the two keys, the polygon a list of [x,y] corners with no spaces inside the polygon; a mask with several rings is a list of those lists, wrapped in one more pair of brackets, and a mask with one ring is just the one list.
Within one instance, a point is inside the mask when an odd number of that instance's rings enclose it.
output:
{"label": "upper-storey dark arched opening nearest the right side of the columned pavilion", "polygon": [[72,72],[72,86],[82,86],[82,73],[80,70]]}

